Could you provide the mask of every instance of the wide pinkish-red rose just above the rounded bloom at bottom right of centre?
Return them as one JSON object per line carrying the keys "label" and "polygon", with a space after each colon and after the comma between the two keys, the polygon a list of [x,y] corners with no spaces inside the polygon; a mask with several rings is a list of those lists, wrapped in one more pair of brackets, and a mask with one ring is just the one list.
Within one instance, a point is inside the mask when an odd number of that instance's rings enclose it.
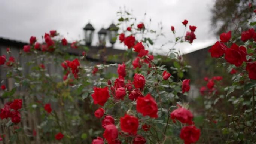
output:
{"label": "wide pinkish-red rose just above the rounded bloom at bottom right of centre", "polygon": [[183,107],[179,107],[171,112],[170,117],[174,123],[176,122],[175,119],[179,120],[181,123],[187,123],[189,125],[192,125],[193,123],[193,114]]}

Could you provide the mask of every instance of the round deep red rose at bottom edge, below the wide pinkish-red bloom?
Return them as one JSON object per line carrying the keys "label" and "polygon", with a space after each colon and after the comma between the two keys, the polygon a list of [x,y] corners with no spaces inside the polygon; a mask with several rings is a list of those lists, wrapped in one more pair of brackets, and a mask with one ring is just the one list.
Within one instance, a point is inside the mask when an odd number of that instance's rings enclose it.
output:
{"label": "round deep red rose at bottom edge, below the wide pinkish-red bloom", "polygon": [[200,129],[195,126],[185,126],[180,131],[180,138],[184,140],[185,144],[195,143],[199,140],[200,135]]}

